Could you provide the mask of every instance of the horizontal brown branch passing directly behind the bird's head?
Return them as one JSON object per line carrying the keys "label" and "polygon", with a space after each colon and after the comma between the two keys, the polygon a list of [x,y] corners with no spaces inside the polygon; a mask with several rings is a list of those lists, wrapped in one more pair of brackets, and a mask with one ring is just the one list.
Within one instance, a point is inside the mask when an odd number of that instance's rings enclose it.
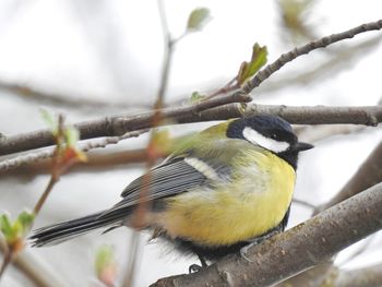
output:
{"label": "horizontal brown branch passing directly behind the bird's head", "polygon": [[[163,110],[163,117],[168,119],[160,124],[227,120],[238,118],[242,115],[268,113],[283,117],[290,123],[299,124],[332,124],[353,123],[365,125],[377,125],[382,122],[381,106],[363,107],[325,107],[325,106],[272,106],[254,104],[222,104],[226,101],[248,101],[246,95],[232,97],[232,95],[214,97],[194,106],[169,108]],[[219,106],[219,107],[217,107]],[[247,107],[247,108],[246,108]],[[212,109],[211,109],[212,108]],[[203,110],[208,109],[203,112]],[[119,116],[103,118],[94,121],[74,124],[81,132],[81,140],[100,136],[118,136],[126,132],[147,129],[153,127],[152,120],[155,112],[145,112],[136,116]],[[172,121],[171,121],[172,120]],[[33,148],[39,148],[53,144],[49,130],[40,130],[24,134],[12,135],[0,139],[0,155],[7,155]]]}

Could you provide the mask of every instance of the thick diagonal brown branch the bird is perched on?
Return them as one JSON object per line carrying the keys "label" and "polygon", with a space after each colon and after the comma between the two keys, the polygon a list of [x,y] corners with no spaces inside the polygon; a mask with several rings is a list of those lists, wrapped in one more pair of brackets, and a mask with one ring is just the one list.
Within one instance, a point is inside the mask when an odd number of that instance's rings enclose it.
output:
{"label": "thick diagonal brown branch the bird is perched on", "polygon": [[382,228],[379,183],[285,232],[227,256],[198,273],[152,286],[268,286],[325,262]]}

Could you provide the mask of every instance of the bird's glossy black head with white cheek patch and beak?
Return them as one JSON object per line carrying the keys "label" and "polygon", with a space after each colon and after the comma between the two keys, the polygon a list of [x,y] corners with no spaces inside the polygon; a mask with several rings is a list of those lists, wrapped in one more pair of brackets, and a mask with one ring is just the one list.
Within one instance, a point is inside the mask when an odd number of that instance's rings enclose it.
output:
{"label": "bird's glossy black head with white cheek patch and beak", "polygon": [[268,150],[295,169],[298,153],[313,147],[299,142],[290,124],[275,116],[253,116],[235,120],[228,125],[227,136],[242,139]]}

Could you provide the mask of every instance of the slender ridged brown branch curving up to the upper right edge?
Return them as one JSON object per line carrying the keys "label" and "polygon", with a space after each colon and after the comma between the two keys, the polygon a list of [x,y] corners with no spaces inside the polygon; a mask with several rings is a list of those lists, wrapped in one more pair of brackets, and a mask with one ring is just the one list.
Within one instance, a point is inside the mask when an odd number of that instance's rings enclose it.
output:
{"label": "slender ridged brown branch curving up to the upper right edge", "polygon": [[[266,65],[253,79],[248,81],[242,88],[239,88],[235,93],[230,95],[224,95],[220,97],[211,98],[208,100],[204,100],[188,107],[165,109],[163,110],[163,116],[166,119],[171,119],[175,121],[195,122],[195,121],[201,121],[201,117],[199,113],[203,110],[227,105],[230,103],[248,103],[251,100],[251,97],[248,94],[252,92],[253,88],[258,87],[263,81],[268,79],[273,73],[278,71],[283,65],[293,61],[297,57],[309,53],[314,49],[326,47],[339,40],[353,38],[355,35],[363,32],[381,29],[381,27],[382,27],[382,20],[379,20],[375,22],[360,25],[358,27],[355,27],[353,29],[349,29],[343,33],[333,34],[327,37],[323,37],[319,40],[311,41],[299,48],[295,48],[294,50],[282,55],[275,62]],[[227,119],[227,111],[225,111],[224,113],[226,117],[223,117],[223,118]],[[217,116],[216,112],[214,112],[214,115]],[[220,115],[220,117],[222,116],[223,115]],[[240,113],[239,115],[236,113],[236,117],[239,117],[239,116]],[[188,119],[188,121],[184,121],[184,118]],[[220,120],[220,119],[222,118],[215,118],[211,120]],[[341,119],[337,119],[337,121],[341,121]],[[153,112],[147,112],[135,117],[124,116],[124,117],[104,118],[95,121],[82,122],[82,123],[75,124],[75,127],[81,131],[81,139],[85,140],[85,139],[99,137],[99,136],[121,135],[128,131],[147,129],[153,127],[152,122],[153,122]],[[362,123],[362,124],[365,123],[377,124],[378,122],[379,121],[375,118],[370,118],[370,117],[367,117],[366,121],[363,119],[362,122],[355,122],[355,120],[345,121],[345,122],[341,121],[341,123]],[[305,123],[309,123],[309,122],[305,122]],[[319,122],[314,122],[314,123],[317,124]],[[327,123],[327,121],[321,122],[321,123]],[[331,123],[334,123],[334,122],[331,122]],[[335,123],[338,123],[338,122],[335,122]],[[10,136],[9,139],[7,137],[2,139],[0,141],[0,155],[28,151],[33,148],[48,146],[51,144],[53,144],[53,140],[51,137],[51,134],[46,130],[21,134],[21,135],[14,135],[14,136]]]}

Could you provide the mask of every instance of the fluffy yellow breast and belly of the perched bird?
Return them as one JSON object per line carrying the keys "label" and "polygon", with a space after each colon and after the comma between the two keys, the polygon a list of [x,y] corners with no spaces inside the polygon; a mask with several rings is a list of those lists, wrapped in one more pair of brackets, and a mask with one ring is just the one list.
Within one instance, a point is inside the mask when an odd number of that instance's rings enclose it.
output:
{"label": "fluffy yellow breast and belly of the perched bird", "polygon": [[237,158],[235,180],[214,191],[189,191],[169,199],[157,224],[174,238],[207,246],[232,244],[276,227],[289,207],[296,174],[270,152],[252,153],[250,165]]}

